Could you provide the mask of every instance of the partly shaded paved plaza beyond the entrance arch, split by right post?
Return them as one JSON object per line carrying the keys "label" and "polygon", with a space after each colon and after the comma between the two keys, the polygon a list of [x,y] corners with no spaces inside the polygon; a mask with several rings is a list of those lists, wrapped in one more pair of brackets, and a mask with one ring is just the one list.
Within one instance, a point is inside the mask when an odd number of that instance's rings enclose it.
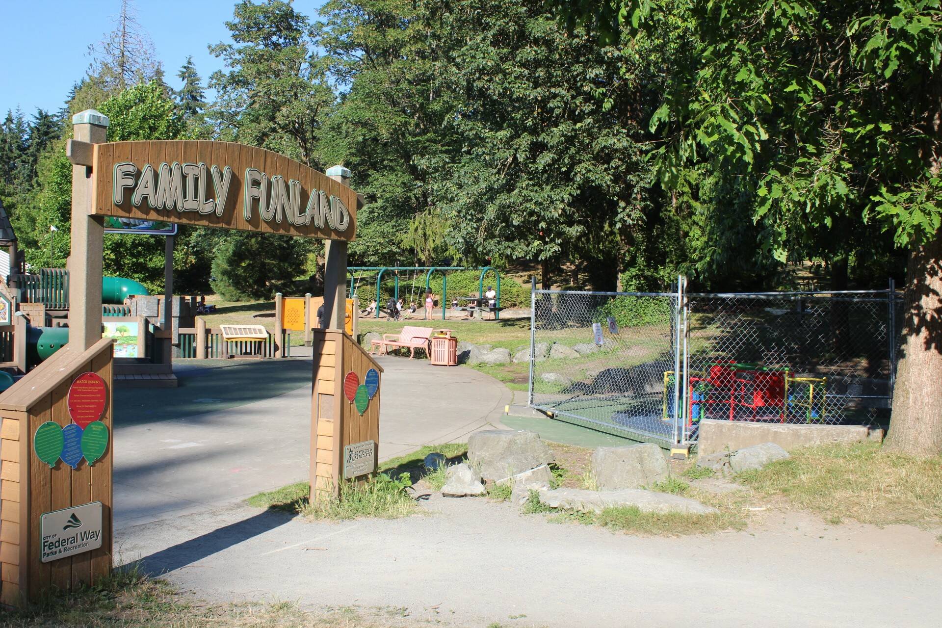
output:
{"label": "partly shaded paved plaza beyond the entrance arch, split by right post", "polygon": [[[510,392],[469,368],[381,357],[380,458],[461,441]],[[306,479],[311,362],[177,362],[177,389],[115,391],[115,527],[231,505]]]}

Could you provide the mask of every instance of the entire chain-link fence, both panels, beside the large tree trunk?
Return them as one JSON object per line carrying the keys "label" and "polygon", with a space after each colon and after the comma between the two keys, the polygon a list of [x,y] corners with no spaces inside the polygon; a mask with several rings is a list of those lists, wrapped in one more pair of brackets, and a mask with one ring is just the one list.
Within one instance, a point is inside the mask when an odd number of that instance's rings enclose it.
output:
{"label": "entire chain-link fence, both panels, beside the large tree trunk", "polygon": [[534,290],[532,301],[529,402],[566,421],[668,446],[696,442],[707,418],[889,418],[902,308],[892,288]]}

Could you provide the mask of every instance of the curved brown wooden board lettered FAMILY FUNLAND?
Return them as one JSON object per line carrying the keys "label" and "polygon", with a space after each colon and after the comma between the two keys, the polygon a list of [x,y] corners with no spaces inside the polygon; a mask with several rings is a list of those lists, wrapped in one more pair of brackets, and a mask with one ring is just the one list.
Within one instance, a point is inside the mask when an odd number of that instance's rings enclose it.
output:
{"label": "curved brown wooden board lettered FAMILY FUNLAND", "polygon": [[92,171],[96,216],[330,240],[350,241],[356,234],[356,192],[254,146],[204,140],[96,144]]}

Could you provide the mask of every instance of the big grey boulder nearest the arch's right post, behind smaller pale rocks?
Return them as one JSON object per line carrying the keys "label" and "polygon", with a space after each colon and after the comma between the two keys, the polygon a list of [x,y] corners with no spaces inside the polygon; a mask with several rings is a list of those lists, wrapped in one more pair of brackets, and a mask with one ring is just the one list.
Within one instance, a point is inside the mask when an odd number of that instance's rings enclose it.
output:
{"label": "big grey boulder nearest the arch's right post, behind smaller pale rocks", "polygon": [[484,479],[505,479],[554,459],[553,450],[530,429],[485,429],[468,437],[468,462]]}

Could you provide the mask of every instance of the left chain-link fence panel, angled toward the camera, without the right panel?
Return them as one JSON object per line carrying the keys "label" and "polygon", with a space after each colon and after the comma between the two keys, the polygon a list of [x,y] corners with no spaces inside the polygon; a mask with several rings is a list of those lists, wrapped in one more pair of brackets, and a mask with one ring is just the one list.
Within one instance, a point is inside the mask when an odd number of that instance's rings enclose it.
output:
{"label": "left chain-link fence panel, angled toward the camera, without the right panel", "polygon": [[677,438],[678,295],[533,292],[530,405],[627,438]]}

